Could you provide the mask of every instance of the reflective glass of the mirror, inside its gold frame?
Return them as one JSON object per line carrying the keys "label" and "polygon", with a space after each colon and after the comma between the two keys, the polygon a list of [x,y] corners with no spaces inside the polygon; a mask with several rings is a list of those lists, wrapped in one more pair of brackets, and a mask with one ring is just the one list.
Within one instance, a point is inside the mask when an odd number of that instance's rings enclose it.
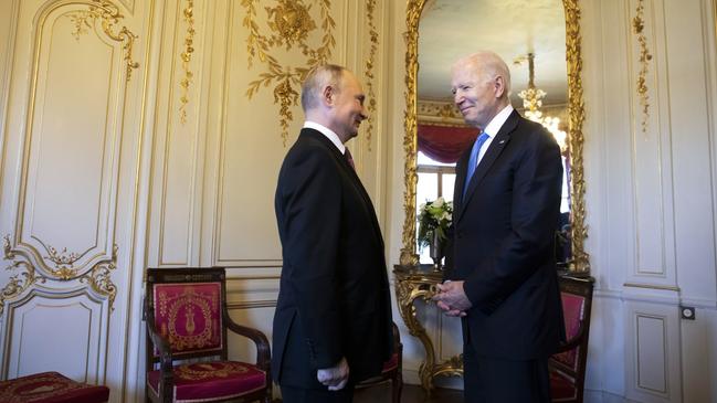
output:
{"label": "reflective glass of the mirror, inside its gold frame", "polygon": [[[417,78],[417,216],[426,201],[453,199],[455,162],[477,136],[453,104],[451,66],[477,50],[492,50],[510,67],[513,106],[540,121],[563,155],[561,219],[557,234],[559,263],[567,265],[570,245],[570,167],[567,138],[568,72],[566,15],[561,0],[529,2],[429,0],[419,22]],[[432,263],[428,247],[420,263]]]}

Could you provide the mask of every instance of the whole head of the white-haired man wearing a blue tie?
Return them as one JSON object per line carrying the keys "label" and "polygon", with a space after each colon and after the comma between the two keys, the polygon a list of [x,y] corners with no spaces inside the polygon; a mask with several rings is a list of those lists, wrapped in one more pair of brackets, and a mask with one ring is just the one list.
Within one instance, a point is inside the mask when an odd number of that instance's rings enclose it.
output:
{"label": "whole head of the white-haired man wearing a blue tie", "polygon": [[466,124],[481,129],[508,104],[504,76],[475,56],[455,64],[451,91]]}

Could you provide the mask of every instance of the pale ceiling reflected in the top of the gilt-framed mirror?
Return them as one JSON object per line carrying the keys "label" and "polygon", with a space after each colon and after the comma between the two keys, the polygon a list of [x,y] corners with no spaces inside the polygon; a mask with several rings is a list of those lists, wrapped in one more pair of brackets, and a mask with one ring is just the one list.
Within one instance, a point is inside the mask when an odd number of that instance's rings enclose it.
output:
{"label": "pale ceiling reflected in the top of the gilt-framed mirror", "polygon": [[499,54],[510,67],[513,106],[528,86],[535,53],[535,85],[548,95],[544,106],[567,99],[566,25],[562,0],[429,0],[419,26],[420,99],[451,97],[451,65],[479,50]]}

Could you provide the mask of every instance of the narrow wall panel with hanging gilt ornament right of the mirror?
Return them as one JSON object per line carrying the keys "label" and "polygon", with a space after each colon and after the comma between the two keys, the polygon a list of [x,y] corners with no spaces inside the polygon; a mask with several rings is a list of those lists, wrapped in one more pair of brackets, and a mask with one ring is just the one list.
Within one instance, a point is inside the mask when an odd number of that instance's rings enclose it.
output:
{"label": "narrow wall panel with hanging gilt ornament right of the mirror", "polygon": [[[665,14],[662,0],[625,3],[630,46],[635,271],[629,283],[675,285]],[[654,169],[663,167],[663,169]]]}

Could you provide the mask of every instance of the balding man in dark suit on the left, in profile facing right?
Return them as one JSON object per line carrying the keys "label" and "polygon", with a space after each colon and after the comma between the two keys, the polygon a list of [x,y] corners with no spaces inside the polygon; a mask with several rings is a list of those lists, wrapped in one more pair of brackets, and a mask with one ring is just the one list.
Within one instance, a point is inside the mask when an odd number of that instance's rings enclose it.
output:
{"label": "balding man in dark suit on the left, in profile facing right", "polygon": [[306,123],[278,174],[284,266],[274,315],[274,380],[285,403],[351,402],[391,356],[391,301],[376,212],[344,144],[366,119],[356,76],[310,71]]}

